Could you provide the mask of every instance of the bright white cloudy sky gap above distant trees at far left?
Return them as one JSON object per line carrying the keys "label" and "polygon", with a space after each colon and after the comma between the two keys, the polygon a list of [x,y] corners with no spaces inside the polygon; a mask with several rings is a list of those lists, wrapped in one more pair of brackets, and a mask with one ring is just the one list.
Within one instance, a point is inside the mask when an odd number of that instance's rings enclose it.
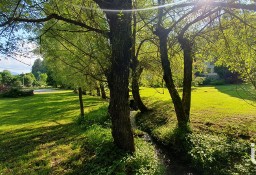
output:
{"label": "bright white cloudy sky gap above distant trees at far left", "polygon": [[19,46],[19,52],[11,55],[0,54],[0,71],[9,70],[13,73],[29,73],[31,72],[34,61],[41,56],[32,52],[36,48],[35,43],[23,43]]}

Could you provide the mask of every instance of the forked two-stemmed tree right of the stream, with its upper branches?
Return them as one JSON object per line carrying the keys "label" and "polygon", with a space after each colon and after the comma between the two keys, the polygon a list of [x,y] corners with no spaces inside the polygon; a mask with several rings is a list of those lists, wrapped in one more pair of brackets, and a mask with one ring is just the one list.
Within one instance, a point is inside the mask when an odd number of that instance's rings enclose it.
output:
{"label": "forked two-stemmed tree right of the stream, with its upper branches", "polygon": [[[158,0],[159,6],[165,5],[165,0]],[[159,38],[160,58],[163,68],[163,79],[165,80],[166,87],[171,95],[174,103],[174,108],[180,128],[187,128],[190,118],[190,105],[191,105],[191,81],[192,81],[192,63],[194,56],[194,42],[195,38],[218,16],[221,16],[222,8],[229,7],[235,9],[248,9],[255,10],[254,5],[245,4],[232,4],[226,2],[209,2],[201,4],[198,2],[197,7],[193,4],[185,3],[177,5],[175,10],[180,8],[179,12],[172,11],[172,8],[165,9],[165,7],[158,9],[157,24],[155,24],[154,34]],[[202,8],[205,5],[205,9]],[[189,7],[190,6],[190,7]],[[184,7],[186,7],[184,9]],[[192,8],[193,7],[193,8]],[[176,18],[172,15],[177,13]],[[170,15],[168,17],[168,15]],[[209,17],[209,21],[205,19]],[[171,20],[170,20],[171,19]],[[168,21],[170,20],[170,21]],[[196,25],[198,24],[198,25]],[[191,29],[192,28],[192,29]],[[175,31],[175,32],[172,32]],[[169,61],[168,55],[168,37],[177,33],[177,40],[183,51],[184,60],[184,76],[183,76],[183,93],[182,98],[175,87],[173,71]]]}

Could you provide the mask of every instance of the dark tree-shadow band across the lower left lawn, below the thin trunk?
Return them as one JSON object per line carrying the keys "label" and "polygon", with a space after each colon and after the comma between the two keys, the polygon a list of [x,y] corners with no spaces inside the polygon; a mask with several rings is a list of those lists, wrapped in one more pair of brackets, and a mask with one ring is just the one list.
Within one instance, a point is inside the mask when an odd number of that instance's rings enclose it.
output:
{"label": "dark tree-shadow band across the lower left lawn, below the thin trunk", "polygon": [[19,157],[34,151],[39,145],[53,141],[57,141],[56,144],[67,144],[80,134],[82,131],[75,124],[5,132],[0,135],[0,161],[2,163],[15,162]]}

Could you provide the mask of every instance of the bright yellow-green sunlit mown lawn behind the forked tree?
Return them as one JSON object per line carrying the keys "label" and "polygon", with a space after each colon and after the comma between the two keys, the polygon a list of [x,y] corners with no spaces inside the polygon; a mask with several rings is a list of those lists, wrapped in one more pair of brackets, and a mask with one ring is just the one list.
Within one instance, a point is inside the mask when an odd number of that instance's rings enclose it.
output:
{"label": "bright yellow-green sunlit mown lawn behind the forked tree", "polygon": [[[232,133],[256,142],[256,94],[253,90],[249,93],[250,88],[245,85],[193,88],[193,130]],[[176,126],[177,120],[167,89],[142,88],[141,94],[148,107],[156,109],[156,115],[168,116],[169,127]]]}

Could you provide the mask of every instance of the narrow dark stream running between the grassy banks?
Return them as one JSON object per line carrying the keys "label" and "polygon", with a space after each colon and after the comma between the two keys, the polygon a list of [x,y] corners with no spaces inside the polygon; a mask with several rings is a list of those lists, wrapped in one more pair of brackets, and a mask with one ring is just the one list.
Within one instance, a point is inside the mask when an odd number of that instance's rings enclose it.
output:
{"label": "narrow dark stream running between the grassy banks", "polygon": [[[136,114],[136,111],[130,112],[131,124],[132,127],[135,129],[137,129],[135,121]],[[165,175],[196,175],[189,167],[186,167],[186,165],[184,165],[180,160],[172,158],[169,151],[165,147],[154,141],[154,139],[148,133],[144,132],[142,138],[145,141],[150,142],[155,147],[155,151],[159,160],[161,160],[166,167]]]}

